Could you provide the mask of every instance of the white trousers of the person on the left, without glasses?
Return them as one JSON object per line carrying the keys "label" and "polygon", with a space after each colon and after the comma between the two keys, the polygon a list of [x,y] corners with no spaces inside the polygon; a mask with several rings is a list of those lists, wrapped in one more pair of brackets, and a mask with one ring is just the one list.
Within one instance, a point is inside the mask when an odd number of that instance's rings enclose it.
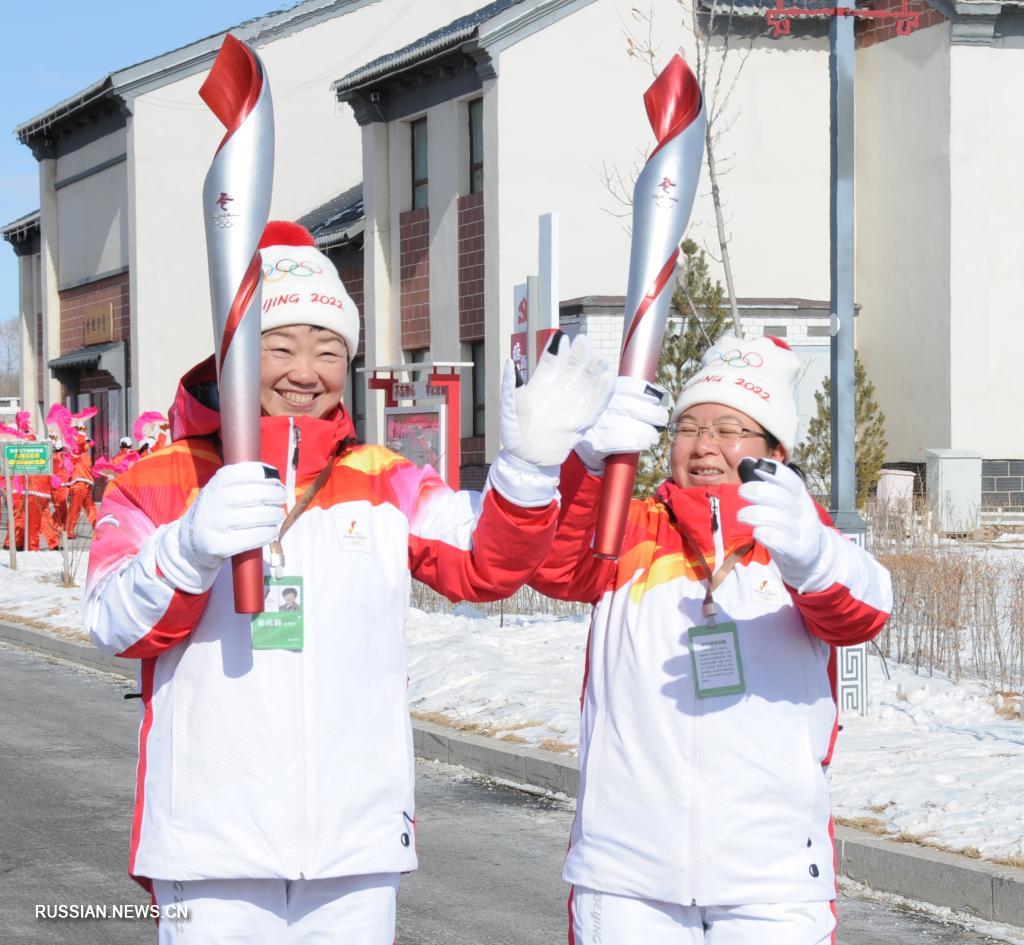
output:
{"label": "white trousers of the person on the left, without glasses", "polygon": [[[154,879],[159,945],[392,945],[398,873]],[[187,918],[176,918],[181,906]],[[170,908],[169,908],[170,907]]]}

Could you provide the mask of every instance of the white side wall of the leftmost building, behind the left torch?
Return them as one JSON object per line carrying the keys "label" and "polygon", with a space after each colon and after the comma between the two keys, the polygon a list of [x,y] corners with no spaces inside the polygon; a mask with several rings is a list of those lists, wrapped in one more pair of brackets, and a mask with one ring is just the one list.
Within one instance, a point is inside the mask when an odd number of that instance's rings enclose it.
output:
{"label": "white side wall of the leftmost building, behind the left torch", "polygon": [[[257,46],[276,132],[271,216],[294,219],[362,179],[361,135],[331,83],[475,9],[476,0],[381,0]],[[162,410],[213,350],[200,200],[222,129],[198,96],[205,75],[134,99],[135,410]]]}

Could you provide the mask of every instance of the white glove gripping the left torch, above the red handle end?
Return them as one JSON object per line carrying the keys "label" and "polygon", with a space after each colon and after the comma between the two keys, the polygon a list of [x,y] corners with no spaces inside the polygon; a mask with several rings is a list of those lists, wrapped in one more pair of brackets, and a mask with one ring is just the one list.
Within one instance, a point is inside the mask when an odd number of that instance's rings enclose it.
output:
{"label": "white glove gripping the left torch, above the red handle end", "polygon": [[161,533],[157,566],[174,587],[190,594],[209,590],[221,565],[278,536],[288,493],[272,467],[262,463],[222,466],[191,508]]}

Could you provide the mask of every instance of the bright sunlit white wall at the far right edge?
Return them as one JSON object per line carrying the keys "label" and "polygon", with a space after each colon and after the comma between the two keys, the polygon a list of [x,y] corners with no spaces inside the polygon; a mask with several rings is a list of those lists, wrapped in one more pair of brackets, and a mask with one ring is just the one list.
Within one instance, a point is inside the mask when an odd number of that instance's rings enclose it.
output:
{"label": "bright sunlit white wall at the far right edge", "polygon": [[953,46],[948,444],[1024,457],[1024,38]]}

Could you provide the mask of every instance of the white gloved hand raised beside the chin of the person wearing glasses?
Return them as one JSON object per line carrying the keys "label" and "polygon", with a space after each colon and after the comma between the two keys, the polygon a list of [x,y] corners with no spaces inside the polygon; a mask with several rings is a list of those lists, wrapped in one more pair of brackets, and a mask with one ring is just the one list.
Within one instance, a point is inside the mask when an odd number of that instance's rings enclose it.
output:
{"label": "white gloved hand raised beside the chin of the person wearing glasses", "polygon": [[834,584],[840,549],[846,541],[826,527],[803,479],[788,466],[774,463],[775,474],[757,470],[761,481],[744,482],[739,498],[752,505],[736,518],[754,526],[754,538],[771,552],[782,579],[801,594]]}

